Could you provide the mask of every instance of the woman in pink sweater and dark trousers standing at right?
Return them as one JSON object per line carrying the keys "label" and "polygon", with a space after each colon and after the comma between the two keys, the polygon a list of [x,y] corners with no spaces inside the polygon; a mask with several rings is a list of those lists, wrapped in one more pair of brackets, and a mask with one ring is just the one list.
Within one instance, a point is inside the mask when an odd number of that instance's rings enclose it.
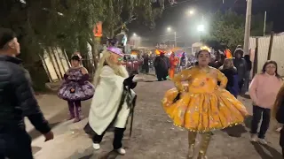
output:
{"label": "woman in pink sweater and dark trousers standing at right", "polygon": [[[253,119],[251,122],[251,141],[258,141],[262,144],[267,144],[264,140],[265,133],[268,130],[271,109],[275,102],[282,85],[282,79],[277,72],[277,63],[275,61],[267,61],[264,64],[262,73],[257,74],[252,79],[248,88],[249,95],[253,101]],[[258,124],[263,118],[260,131],[257,135]]]}

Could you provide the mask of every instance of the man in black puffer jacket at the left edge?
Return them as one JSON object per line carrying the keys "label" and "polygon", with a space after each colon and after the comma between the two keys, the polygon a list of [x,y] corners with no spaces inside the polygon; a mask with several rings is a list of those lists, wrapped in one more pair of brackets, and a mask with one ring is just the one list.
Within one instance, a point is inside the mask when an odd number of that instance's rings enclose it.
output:
{"label": "man in black puffer jacket at the left edge", "polygon": [[0,28],[0,158],[33,159],[24,117],[46,141],[53,139],[53,133],[36,102],[28,71],[16,57],[19,54],[16,35],[11,29]]}

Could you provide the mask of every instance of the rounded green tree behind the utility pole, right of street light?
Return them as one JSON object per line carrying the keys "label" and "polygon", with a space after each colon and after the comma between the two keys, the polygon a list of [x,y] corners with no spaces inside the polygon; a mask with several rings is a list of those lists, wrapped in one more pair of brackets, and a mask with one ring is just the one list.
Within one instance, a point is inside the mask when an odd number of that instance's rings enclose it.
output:
{"label": "rounded green tree behind the utility pole, right of street light", "polygon": [[[217,49],[228,48],[236,49],[238,45],[243,44],[245,31],[245,16],[238,15],[234,11],[217,11],[211,15],[209,33],[201,37],[201,41]],[[264,16],[257,14],[252,16],[251,35],[262,36],[264,33]],[[266,24],[266,33],[272,30],[272,23]]]}

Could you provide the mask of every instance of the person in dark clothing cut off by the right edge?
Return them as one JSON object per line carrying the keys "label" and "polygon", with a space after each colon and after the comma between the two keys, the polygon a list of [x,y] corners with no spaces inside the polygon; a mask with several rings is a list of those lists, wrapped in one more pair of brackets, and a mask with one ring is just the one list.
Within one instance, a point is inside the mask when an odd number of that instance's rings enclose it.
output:
{"label": "person in dark clothing cut off by the right edge", "polygon": [[[280,124],[284,124],[284,85],[280,88],[276,100],[274,102],[274,107],[272,111],[273,116]],[[284,129],[280,130],[280,146],[282,148],[282,155],[284,158]]]}

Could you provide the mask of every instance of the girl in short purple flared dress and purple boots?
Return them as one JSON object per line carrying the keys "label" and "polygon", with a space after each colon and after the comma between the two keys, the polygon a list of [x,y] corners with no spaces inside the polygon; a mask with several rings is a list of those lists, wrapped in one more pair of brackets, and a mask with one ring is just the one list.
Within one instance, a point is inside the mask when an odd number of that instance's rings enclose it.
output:
{"label": "girl in short purple flared dress and purple boots", "polygon": [[71,57],[72,67],[64,74],[65,81],[59,89],[59,98],[68,102],[70,111],[69,120],[75,118],[74,122],[81,120],[81,101],[91,99],[94,95],[94,87],[88,81],[89,74],[81,65],[81,57]]}

